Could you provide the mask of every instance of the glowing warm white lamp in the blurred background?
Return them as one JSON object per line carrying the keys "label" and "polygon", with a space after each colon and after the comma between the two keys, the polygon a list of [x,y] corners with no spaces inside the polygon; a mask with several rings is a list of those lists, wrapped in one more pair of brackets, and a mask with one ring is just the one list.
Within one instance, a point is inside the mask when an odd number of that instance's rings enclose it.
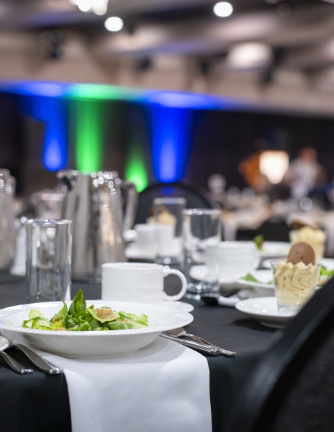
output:
{"label": "glowing warm white lamp in the blurred background", "polygon": [[276,185],[289,169],[289,155],[285,151],[264,151],[260,155],[260,173]]}

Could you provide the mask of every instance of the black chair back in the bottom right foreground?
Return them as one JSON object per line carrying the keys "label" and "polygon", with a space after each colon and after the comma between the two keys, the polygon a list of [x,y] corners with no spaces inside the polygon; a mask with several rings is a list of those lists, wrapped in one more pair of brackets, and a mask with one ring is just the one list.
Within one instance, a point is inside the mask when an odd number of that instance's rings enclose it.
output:
{"label": "black chair back in the bottom right foreground", "polygon": [[255,364],[222,431],[332,432],[333,406],[331,279]]}

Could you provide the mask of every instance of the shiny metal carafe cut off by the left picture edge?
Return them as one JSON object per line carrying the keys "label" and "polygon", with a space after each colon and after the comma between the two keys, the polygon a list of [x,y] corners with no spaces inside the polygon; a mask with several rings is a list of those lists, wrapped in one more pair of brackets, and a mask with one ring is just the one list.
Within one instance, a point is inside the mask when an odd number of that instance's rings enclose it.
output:
{"label": "shiny metal carafe cut off by the left picture edge", "polygon": [[8,169],[0,169],[0,270],[7,270],[15,258],[15,196],[16,180]]}

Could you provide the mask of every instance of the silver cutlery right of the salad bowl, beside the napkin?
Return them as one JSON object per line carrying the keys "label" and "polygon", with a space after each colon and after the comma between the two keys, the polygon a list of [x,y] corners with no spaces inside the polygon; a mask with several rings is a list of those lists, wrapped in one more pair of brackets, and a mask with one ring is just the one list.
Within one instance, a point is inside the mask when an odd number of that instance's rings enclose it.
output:
{"label": "silver cutlery right of the salad bowl, beside the napkin", "polygon": [[[232,357],[233,355],[237,354],[234,351],[228,351],[224,350],[223,348],[219,348],[218,346],[211,344],[205,339],[195,336],[194,334],[189,334],[186,332],[186,330],[184,330],[183,327],[161,333],[160,336],[164,337],[165,339],[169,339],[170,341],[175,341],[178,344],[189,346],[189,348],[195,348],[198,351],[202,351],[202,353],[211,355],[225,355],[226,357]],[[183,337],[188,337],[192,340],[189,341],[188,339],[183,339]]]}

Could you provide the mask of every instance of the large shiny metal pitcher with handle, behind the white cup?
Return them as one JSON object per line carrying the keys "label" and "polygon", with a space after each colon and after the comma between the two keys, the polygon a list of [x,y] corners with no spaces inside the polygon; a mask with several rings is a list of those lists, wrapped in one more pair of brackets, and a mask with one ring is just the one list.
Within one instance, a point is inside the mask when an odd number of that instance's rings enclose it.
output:
{"label": "large shiny metal pitcher with handle, behind the white cup", "polygon": [[[63,183],[62,217],[73,222],[72,277],[99,281],[103,263],[125,261],[122,235],[134,222],[137,192],[115,171],[57,173]],[[128,192],[123,219],[122,194]]]}

